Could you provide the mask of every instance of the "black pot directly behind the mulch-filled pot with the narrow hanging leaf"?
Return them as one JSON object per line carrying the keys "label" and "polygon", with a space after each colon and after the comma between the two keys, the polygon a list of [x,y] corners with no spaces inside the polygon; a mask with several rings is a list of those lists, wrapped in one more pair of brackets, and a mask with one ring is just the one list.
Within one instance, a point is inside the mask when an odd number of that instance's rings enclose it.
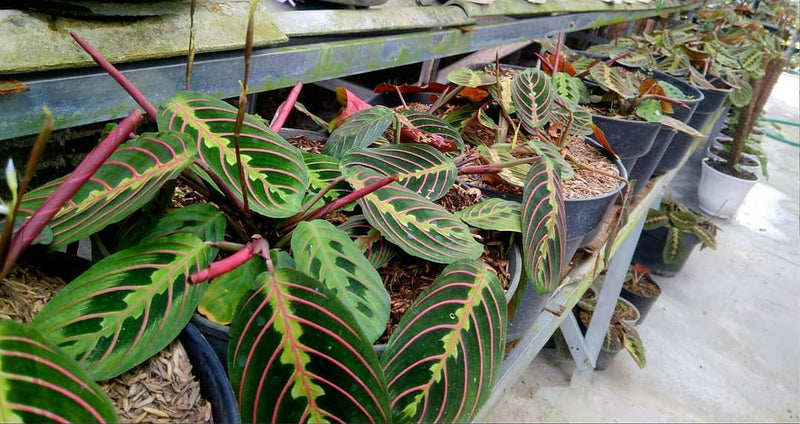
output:
{"label": "black pot directly behind the mulch-filled pot with the narrow hanging leaf", "polygon": [[603,130],[611,149],[619,156],[629,173],[636,159],[653,147],[656,134],[661,128],[661,125],[655,122],[609,118],[602,115],[592,115],[592,122]]}

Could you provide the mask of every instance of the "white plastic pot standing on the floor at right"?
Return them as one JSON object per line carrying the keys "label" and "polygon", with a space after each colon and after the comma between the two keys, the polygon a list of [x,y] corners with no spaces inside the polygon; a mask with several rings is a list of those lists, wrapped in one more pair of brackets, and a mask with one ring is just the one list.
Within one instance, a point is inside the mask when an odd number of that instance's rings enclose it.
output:
{"label": "white plastic pot standing on the floor at right", "polygon": [[711,216],[730,218],[757,182],[758,179],[744,180],[717,171],[705,158],[697,189],[700,209]]}

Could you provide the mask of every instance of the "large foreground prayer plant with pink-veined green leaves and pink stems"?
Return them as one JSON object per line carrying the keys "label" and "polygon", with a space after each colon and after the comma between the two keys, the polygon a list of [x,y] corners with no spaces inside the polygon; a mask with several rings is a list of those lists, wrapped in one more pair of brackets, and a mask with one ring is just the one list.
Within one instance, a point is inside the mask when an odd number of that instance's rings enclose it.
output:
{"label": "large foreground prayer plant with pink-veined green leaves and pink stems", "polygon": [[[238,109],[191,91],[156,109],[75,38],[158,131],[135,134],[134,110],[72,174],[14,191],[21,225],[6,271],[32,242],[116,238],[32,325],[0,323],[6,420],[115,420],[92,380],[166,347],[198,307],[230,316],[228,371],[245,421],[467,421],[479,410],[502,363],[507,305],[470,225],[521,232],[526,273],[554,290],[565,229],[550,162],[528,161],[522,204],[454,215],[432,200],[464,170],[463,142],[432,115],[364,108],[313,154],[278,135],[299,84],[270,125],[244,112],[249,48]],[[159,202],[178,179],[209,203]],[[342,208],[352,211],[342,226],[322,219]],[[376,268],[392,249],[447,267],[379,358],[390,299]]]}

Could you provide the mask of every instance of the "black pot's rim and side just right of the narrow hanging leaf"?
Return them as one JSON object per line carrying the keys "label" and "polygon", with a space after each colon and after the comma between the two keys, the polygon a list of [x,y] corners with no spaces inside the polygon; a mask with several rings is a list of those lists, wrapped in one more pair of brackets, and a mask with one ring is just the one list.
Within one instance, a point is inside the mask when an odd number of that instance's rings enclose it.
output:
{"label": "black pot's rim and side just right of the narrow hanging leaf", "polygon": [[[605,152],[596,141],[587,138],[586,143],[608,155],[608,152]],[[615,160],[615,162],[622,178],[627,179],[628,173],[625,170],[625,166],[619,160]],[[594,239],[597,232],[602,228],[600,223],[624,187],[625,184],[622,183],[616,190],[600,196],[585,199],[564,199],[564,207],[567,213],[566,258],[572,258],[578,249],[588,245]]]}

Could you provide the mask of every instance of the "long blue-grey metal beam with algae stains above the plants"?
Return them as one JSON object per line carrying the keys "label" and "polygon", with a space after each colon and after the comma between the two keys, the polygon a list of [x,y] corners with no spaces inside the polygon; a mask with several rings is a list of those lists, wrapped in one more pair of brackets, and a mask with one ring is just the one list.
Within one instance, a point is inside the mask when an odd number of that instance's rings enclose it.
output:
{"label": "long blue-grey metal beam with algae stains above the plants", "polygon": [[[673,2],[674,3],[674,2]],[[251,60],[253,93],[288,87],[296,81],[316,82],[347,75],[413,64],[504,44],[577,31],[617,22],[674,13],[695,7],[688,3],[660,11],[610,10],[514,19],[491,17],[462,29],[416,30],[386,35],[292,39],[280,47],[256,49]],[[455,6],[453,6],[455,7]],[[502,22],[480,23],[481,20]],[[185,59],[144,60],[119,68],[154,104],[169,100],[184,87]],[[192,89],[220,98],[235,97],[243,71],[240,52],[198,55]],[[30,87],[25,93],[0,96],[0,140],[35,134],[48,106],[56,129],[120,118],[133,101],[98,68],[18,74]]]}

